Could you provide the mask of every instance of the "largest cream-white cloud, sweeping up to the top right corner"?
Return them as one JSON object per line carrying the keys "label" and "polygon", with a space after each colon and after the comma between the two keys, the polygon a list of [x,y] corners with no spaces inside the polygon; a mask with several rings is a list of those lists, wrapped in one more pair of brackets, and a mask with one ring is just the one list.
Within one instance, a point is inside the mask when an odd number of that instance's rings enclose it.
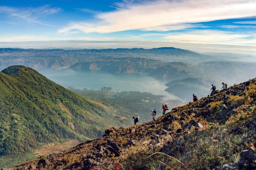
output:
{"label": "largest cream-white cloud, sweeping up to the top right corner", "polygon": [[[133,2],[133,1],[131,1]],[[255,0],[139,0],[119,3],[112,12],[95,15],[96,22],[73,22],[60,33],[78,29],[83,32],[124,30],[175,30],[177,25],[256,16]],[[125,4],[125,5],[124,5]],[[182,26],[180,26],[182,27]]]}

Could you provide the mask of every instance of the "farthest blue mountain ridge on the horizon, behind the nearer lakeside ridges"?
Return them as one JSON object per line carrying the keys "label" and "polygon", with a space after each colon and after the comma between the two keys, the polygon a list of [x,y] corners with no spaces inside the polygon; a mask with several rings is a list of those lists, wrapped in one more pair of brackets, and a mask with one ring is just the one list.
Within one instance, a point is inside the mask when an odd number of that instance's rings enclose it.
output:
{"label": "farthest blue mountain ridge on the horizon, behind the nearer lakeside ridges", "polygon": [[92,60],[100,57],[142,57],[166,62],[198,63],[212,60],[207,55],[173,47],[154,49],[84,49],[84,50],[38,50],[38,49],[0,49],[0,69],[11,65],[25,65],[33,69],[63,68],[79,61]]}

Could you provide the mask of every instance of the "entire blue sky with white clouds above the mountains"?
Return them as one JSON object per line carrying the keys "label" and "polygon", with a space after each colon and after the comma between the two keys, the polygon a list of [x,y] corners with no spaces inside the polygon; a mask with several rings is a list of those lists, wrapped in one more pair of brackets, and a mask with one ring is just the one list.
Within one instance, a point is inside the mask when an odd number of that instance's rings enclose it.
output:
{"label": "entire blue sky with white clouds above the mountains", "polygon": [[102,48],[254,50],[256,0],[0,0],[0,47],[84,47],[64,43],[77,40]]}

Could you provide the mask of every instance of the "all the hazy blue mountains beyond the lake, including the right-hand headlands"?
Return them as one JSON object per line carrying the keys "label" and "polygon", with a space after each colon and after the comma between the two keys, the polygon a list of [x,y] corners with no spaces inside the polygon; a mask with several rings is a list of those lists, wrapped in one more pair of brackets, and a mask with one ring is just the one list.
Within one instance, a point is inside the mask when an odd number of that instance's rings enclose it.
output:
{"label": "all the hazy blue mountains beyond the lake, including the right-hand headlands", "polygon": [[[185,101],[191,101],[189,96],[193,93],[197,93],[198,97],[207,95],[211,84],[221,88],[222,82],[232,85],[255,77],[256,62],[244,61],[254,61],[255,58],[248,55],[218,53],[202,55],[173,47],[84,50],[5,48],[0,49],[0,68],[25,65],[33,69],[72,69],[147,75],[171,82],[166,84],[166,91],[178,95]],[[194,79],[202,85],[193,84]],[[188,84],[184,85],[184,82]]]}

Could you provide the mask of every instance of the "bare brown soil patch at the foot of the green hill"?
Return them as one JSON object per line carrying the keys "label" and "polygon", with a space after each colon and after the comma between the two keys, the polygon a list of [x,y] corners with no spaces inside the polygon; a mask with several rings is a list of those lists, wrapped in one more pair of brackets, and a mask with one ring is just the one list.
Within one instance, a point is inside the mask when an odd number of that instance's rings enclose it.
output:
{"label": "bare brown soil patch at the foot of the green hill", "polygon": [[49,143],[45,146],[42,146],[40,149],[34,149],[35,156],[41,156],[41,155],[49,155],[51,153],[58,153],[62,152],[63,150],[66,150],[70,147],[76,146],[78,143],[80,143],[78,140],[69,140],[68,142],[60,143],[60,142],[53,142]]}

